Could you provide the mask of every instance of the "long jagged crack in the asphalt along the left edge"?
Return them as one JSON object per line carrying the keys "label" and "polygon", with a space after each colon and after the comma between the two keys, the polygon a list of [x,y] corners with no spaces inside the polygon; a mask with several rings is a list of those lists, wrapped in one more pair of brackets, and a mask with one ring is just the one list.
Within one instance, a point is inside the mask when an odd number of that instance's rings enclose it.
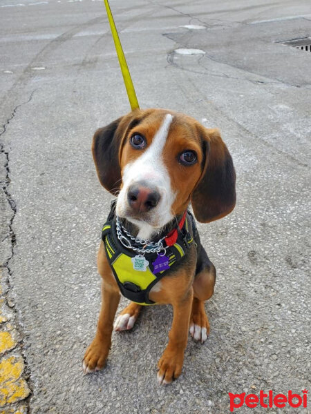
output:
{"label": "long jagged crack in the asphalt along the left edge", "polygon": [[[35,89],[35,90],[37,90],[37,89]],[[12,113],[11,113],[10,117],[8,117],[5,124],[3,124],[3,126],[2,126],[2,131],[0,132],[0,137],[2,137],[6,133],[8,125],[10,124],[12,119],[15,118],[15,115],[17,114],[17,110],[21,106],[26,105],[26,103],[29,103],[31,101],[32,96],[35,93],[35,90],[33,90],[31,92],[30,97],[27,101],[19,103],[19,105],[15,106],[15,108],[12,110]],[[3,168],[5,168],[5,170],[6,170],[6,177],[1,182],[1,187],[3,189],[3,193],[6,196],[6,200],[8,201],[8,204],[10,205],[10,208],[12,210],[12,216],[10,217],[10,221],[9,221],[9,224],[8,224],[8,236],[7,236],[10,239],[11,253],[10,253],[10,256],[6,259],[6,262],[1,264],[1,266],[0,266],[1,268],[6,268],[6,270],[7,270],[6,284],[8,286],[8,290],[6,291],[6,294],[3,295],[3,297],[6,300],[6,305],[10,309],[12,309],[12,312],[14,312],[14,314],[15,314],[15,317],[14,317],[15,324],[14,324],[14,326],[15,326],[15,330],[17,331],[17,333],[19,335],[19,338],[17,339],[17,344],[15,345],[15,347],[13,349],[16,350],[19,347],[21,356],[23,357],[23,363],[24,363],[23,377],[27,381],[28,387],[30,389],[30,394],[28,395],[28,397],[26,397],[25,400],[23,400],[23,402],[27,404],[27,410],[28,410],[28,413],[30,413],[30,397],[32,396],[33,387],[32,387],[32,383],[31,383],[31,380],[30,380],[30,368],[28,366],[26,355],[24,355],[23,350],[22,350],[22,348],[23,348],[23,339],[22,339],[23,338],[23,330],[22,330],[21,324],[19,322],[19,317],[18,317],[18,314],[17,314],[17,309],[15,308],[15,304],[12,304],[10,299],[8,298],[8,295],[10,295],[10,292],[12,291],[12,284],[10,282],[10,277],[12,276],[12,269],[10,268],[10,260],[14,256],[14,248],[15,248],[15,245],[16,245],[16,235],[15,235],[15,231],[13,229],[13,221],[14,221],[15,215],[17,213],[17,205],[15,203],[15,200],[12,198],[12,195],[10,194],[10,191],[8,190],[8,187],[10,186],[10,182],[11,182],[11,180],[10,180],[10,155],[9,155],[9,151],[6,150],[6,148],[5,148],[4,142],[0,142],[0,152],[2,154],[4,154],[5,160],[6,160],[5,164],[3,165]],[[10,351],[12,351],[12,350],[10,350]],[[5,354],[3,354],[3,355],[5,355]]]}

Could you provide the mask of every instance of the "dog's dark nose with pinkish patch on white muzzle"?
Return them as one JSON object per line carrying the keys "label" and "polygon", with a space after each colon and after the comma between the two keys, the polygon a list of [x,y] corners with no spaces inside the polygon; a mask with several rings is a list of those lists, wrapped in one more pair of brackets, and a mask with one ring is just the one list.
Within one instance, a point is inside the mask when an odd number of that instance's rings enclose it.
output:
{"label": "dog's dark nose with pinkish patch on white muzzle", "polygon": [[129,205],[137,213],[146,213],[157,206],[160,194],[154,188],[142,184],[133,184],[127,193]]}

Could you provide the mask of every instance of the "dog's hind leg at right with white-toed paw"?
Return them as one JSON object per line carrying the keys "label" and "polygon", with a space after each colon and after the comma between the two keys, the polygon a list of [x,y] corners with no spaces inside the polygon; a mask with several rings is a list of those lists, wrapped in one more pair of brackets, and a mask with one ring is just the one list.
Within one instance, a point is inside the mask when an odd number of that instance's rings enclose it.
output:
{"label": "dog's hind leg at right with white-toed paw", "polygon": [[209,319],[205,313],[204,302],[214,293],[216,269],[202,247],[198,257],[197,272],[193,284],[194,301],[192,302],[189,332],[194,339],[203,343],[209,335]]}

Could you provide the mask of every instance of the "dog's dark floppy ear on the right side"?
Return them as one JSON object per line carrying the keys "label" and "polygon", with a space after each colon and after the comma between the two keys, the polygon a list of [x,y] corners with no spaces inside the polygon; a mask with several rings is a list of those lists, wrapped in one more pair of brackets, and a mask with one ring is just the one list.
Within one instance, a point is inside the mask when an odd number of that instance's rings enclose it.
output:
{"label": "dog's dark floppy ear on the right side", "polygon": [[232,157],[217,129],[200,126],[204,166],[200,181],[191,195],[194,215],[202,223],[221,219],[236,204],[236,172]]}

